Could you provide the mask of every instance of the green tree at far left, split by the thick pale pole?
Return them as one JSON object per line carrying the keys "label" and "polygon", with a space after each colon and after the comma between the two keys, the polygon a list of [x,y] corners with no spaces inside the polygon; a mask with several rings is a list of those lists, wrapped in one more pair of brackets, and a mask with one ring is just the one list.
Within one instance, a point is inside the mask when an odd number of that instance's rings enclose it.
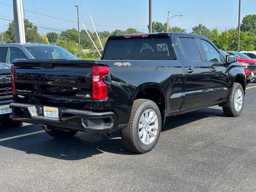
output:
{"label": "green tree at far left, split by the thick pale pole", "polygon": [[[24,19],[26,42],[30,43],[44,43],[44,38],[37,32],[37,26],[32,22]],[[3,32],[4,39],[7,43],[15,42],[14,22],[10,22],[8,29]]]}

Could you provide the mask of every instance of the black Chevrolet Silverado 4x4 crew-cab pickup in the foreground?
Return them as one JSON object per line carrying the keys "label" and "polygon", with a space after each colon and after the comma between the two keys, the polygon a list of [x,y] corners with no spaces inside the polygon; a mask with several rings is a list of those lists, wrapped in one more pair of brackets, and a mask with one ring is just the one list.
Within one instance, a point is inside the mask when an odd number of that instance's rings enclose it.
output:
{"label": "black Chevrolet Silverado 4x4 crew-cab pickup in the foreground", "polygon": [[246,76],[202,36],[110,36],[101,60],[14,60],[12,118],[55,138],[121,130],[124,146],[154,148],[167,116],[222,106],[240,115]]}

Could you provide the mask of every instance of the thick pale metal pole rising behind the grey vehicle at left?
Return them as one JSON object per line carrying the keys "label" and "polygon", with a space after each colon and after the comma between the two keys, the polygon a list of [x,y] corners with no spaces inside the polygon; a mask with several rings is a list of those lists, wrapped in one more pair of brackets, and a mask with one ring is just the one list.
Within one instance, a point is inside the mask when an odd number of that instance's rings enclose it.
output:
{"label": "thick pale metal pole rising behind the grey vehicle at left", "polygon": [[26,43],[22,0],[12,0],[15,42]]}

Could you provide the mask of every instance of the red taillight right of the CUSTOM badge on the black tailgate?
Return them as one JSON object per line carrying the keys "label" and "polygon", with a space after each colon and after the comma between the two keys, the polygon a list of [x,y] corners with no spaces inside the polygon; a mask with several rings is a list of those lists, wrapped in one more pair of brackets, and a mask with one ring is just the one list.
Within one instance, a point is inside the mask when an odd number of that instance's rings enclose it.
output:
{"label": "red taillight right of the CUSTOM badge on the black tailgate", "polygon": [[92,66],[92,99],[104,100],[108,97],[107,84],[103,82],[103,76],[109,73],[106,66]]}

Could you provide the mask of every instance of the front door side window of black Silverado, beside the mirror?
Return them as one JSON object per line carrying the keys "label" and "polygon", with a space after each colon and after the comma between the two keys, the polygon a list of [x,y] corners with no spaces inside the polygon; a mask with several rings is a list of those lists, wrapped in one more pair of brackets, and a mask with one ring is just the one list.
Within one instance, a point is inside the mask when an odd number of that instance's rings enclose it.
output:
{"label": "front door side window of black Silverado, beside the mirror", "polygon": [[202,45],[204,47],[204,52],[206,54],[206,59],[209,62],[221,62],[220,53],[210,44],[209,42],[202,40]]}

